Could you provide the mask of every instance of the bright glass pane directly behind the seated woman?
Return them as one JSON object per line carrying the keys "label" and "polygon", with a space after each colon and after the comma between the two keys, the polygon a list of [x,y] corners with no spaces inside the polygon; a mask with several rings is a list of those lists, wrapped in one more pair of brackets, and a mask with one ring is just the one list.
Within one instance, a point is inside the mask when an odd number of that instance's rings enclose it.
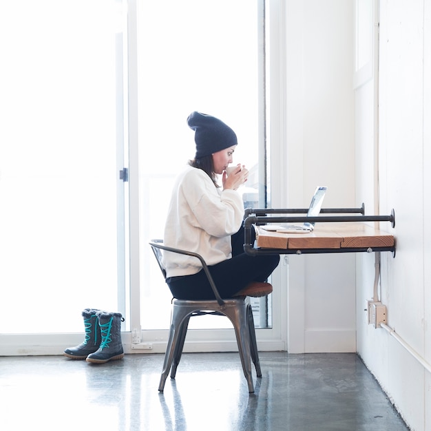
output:
{"label": "bright glass pane directly behind the seated woman", "polygon": [[[235,130],[234,163],[251,172],[240,189],[244,207],[264,206],[263,2],[167,0],[138,6],[140,316],[143,329],[158,330],[169,327],[171,293],[148,240],[162,238],[174,178],[194,157],[186,122],[192,111],[216,116]],[[271,326],[271,304],[257,299],[253,305],[261,312],[256,323]],[[218,317],[196,320],[199,328],[231,327]]]}

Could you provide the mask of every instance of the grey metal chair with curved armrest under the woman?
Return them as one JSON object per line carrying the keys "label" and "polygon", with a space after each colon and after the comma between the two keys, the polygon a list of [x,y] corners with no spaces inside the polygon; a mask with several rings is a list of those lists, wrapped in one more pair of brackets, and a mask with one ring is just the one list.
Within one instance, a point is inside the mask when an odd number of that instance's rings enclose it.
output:
{"label": "grey metal chair with curved armrest under the woman", "polygon": [[249,386],[249,392],[254,392],[253,377],[251,375],[251,360],[255,366],[257,377],[262,377],[260,371],[259,355],[257,353],[255,326],[253,321],[253,312],[251,305],[246,297],[234,297],[222,299],[218,293],[217,287],[209,273],[208,266],[203,257],[198,253],[192,253],[181,249],[174,249],[162,244],[162,240],[151,240],[149,242],[151,249],[154,251],[160,270],[166,278],[166,270],[162,264],[162,250],[171,251],[196,257],[202,264],[203,271],[207,275],[209,284],[213,289],[215,299],[203,301],[191,301],[185,299],[172,299],[171,327],[169,330],[169,339],[165,353],[162,375],[158,386],[159,392],[163,392],[165,381],[169,370],[171,370],[171,379],[175,379],[176,370],[180,363],[182,348],[184,347],[189,319],[199,315],[224,315],[229,317],[235,328],[235,335],[240,353],[242,370]]}

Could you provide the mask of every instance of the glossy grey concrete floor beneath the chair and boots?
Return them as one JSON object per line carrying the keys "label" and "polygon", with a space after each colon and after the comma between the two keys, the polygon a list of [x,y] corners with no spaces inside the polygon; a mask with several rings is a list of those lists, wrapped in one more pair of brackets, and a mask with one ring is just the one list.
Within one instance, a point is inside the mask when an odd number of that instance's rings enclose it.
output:
{"label": "glossy grey concrete floor beneath the chair and boots", "polygon": [[251,395],[238,353],[183,354],[160,394],[162,362],[0,357],[1,430],[408,430],[353,353],[262,352]]}

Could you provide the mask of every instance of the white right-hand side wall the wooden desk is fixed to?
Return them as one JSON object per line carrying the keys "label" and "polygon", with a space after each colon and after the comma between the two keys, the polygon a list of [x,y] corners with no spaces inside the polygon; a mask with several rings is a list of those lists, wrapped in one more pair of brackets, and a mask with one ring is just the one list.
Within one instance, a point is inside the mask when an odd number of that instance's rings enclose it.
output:
{"label": "white right-hand side wall the wooden desk is fixed to", "polygon": [[[395,328],[431,363],[431,2],[381,0],[379,43],[378,178],[370,185],[366,165],[375,161],[370,109],[371,80],[357,89],[357,195],[381,213],[395,209],[395,258],[382,253],[380,297]],[[368,132],[368,134],[367,134]],[[370,140],[371,139],[371,142]],[[431,376],[383,329],[366,322],[374,268],[358,259],[357,351],[413,430],[431,430]]]}

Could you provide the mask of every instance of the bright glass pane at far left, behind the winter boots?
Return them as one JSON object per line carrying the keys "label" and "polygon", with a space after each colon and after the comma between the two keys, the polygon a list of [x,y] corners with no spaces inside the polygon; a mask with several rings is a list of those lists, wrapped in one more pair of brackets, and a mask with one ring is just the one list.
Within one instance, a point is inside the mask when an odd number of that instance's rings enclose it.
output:
{"label": "bright glass pane at far left, behind the winter boots", "polygon": [[123,21],[121,1],[1,3],[3,334],[127,313]]}

